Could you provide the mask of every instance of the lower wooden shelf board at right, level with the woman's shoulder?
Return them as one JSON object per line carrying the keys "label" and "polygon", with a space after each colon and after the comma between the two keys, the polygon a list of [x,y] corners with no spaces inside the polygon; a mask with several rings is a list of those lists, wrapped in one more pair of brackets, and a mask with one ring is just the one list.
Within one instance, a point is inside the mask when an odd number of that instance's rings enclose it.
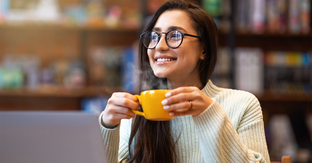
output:
{"label": "lower wooden shelf board at right, level with the woman's shoulder", "polygon": [[272,93],[255,94],[260,102],[312,102],[312,93]]}

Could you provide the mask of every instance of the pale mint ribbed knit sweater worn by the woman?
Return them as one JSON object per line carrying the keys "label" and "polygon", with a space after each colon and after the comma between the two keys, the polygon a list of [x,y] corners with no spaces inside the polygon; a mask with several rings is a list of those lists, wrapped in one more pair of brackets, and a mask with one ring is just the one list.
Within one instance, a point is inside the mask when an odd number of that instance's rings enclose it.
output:
{"label": "pale mint ribbed knit sweater worn by the woman", "polygon": [[[198,116],[178,116],[170,121],[177,162],[270,162],[258,99],[249,92],[220,88],[209,80],[201,90],[212,104]],[[130,158],[132,119],[108,129],[101,125],[109,162]],[[131,145],[134,152],[136,137]]]}

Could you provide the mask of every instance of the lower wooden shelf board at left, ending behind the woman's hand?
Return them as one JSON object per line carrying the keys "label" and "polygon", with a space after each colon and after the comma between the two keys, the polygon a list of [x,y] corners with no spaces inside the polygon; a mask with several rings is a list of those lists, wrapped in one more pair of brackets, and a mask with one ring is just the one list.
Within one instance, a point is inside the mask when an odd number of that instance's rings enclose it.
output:
{"label": "lower wooden shelf board at left, ending behind the woman's hand", "polygon": [[38,86],[36,88],[0,89],[0,96],[13,97],[94,97],[100,95],[111,96],[112,93],[120,91],[118,87],[83,87],[66,88],[64,86]]}

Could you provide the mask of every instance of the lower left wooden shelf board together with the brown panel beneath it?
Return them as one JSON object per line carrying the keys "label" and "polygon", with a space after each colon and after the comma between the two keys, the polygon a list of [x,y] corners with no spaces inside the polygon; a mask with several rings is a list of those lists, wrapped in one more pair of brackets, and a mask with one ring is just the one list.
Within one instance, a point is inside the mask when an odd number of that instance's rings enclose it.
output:
{"label": "lower left wooden shelf board together with the brown panel beneath it", "polygon": [[0,89],[0,110],[81,110],[83,98],[111,96],[116,91],[121,91],[121,88],[42,85],[36,88]]}

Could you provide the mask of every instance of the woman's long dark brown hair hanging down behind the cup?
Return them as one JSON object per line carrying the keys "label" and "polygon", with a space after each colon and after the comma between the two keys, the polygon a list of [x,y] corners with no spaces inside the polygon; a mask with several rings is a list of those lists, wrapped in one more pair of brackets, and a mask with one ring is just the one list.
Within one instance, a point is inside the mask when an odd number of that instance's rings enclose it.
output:
{"label": "woman's long dark brown hair hanging down behind the cup", "polygon": [[[217,62],[217,26],[213,19],[198,5],[183,0],[172,0],[163,3],[154,13],[143,32],[152,30],[158,17],[167,10],[182,10],[188,14],[193,28],[201,37],[204,45],[205,58],[199,65],[199,75],[203,86]],[[139,44],[139,85],[138,93],[151,89],[168,89],[167,79],[154,75],[149,64],[147,48],[142,41]],[[140,108],[140,110],[142,110]],[[131,144],[137,135],[134,153],[131,153]],[[170,121],[149,121],[142,116],[135,116],[131,126],[129,139],[129,162],[144,163],[172,163],[176,161],[174,143],[170,131]]]}

